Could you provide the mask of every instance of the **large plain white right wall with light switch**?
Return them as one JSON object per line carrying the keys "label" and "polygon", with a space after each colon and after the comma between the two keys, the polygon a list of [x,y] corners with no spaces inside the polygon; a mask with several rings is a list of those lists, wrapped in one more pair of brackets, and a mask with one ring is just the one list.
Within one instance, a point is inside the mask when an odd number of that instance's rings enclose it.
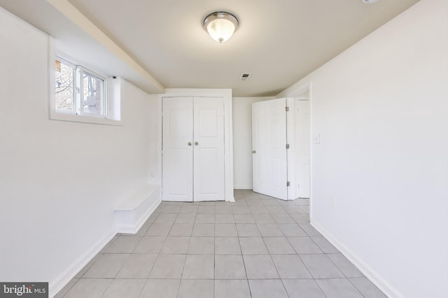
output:
{"label": "large plain white right wall with light switch", "polygon": [[279,94],[311,81],[311,223],[391,297],[448,297],[447,20],[422,0]]}

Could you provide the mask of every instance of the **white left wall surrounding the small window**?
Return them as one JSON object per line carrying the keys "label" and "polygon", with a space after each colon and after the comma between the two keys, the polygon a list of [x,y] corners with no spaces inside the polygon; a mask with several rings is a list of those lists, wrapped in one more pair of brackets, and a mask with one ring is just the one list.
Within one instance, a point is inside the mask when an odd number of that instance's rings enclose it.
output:
{"label": "white left wall surrounding the small window", "polygon": [[48,42],[0,8],[0,280],[49,281],[54,295],[147,183],[157,103],[124,82],[123,126],[48,120]]}

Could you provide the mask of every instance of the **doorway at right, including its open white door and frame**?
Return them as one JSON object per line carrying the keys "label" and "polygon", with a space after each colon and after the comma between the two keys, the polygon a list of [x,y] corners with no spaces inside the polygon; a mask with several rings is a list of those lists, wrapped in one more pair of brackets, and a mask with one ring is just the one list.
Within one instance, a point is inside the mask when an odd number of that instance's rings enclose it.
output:
{"label": "doorway at right, including its open white door and frame", "polygon": [[252,104],[253,191],[282,200],[311,197],[310,88]]}

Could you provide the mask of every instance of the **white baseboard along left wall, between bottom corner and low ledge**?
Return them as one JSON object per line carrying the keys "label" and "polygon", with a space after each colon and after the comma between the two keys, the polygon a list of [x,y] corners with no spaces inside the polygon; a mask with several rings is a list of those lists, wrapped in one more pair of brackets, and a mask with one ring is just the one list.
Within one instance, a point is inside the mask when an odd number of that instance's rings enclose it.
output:
{"label": "white baseboard along left wall, between bottom corner and low ledge", "polygon": [[80,256],[72,265],[66,269],[62,274],[55,279],[55,281],[50,281],[48,283],[48,297],[54,297],[64,286],[71,281],[71,279],[78,274],[78,272],[87,265],[92,258],[94,258],[99,251],[101,251],[106,244],[111,241],[111,239],[117,234],[115,227],[109,233],[106,234],[102,239],[99,239],[88,251]]}

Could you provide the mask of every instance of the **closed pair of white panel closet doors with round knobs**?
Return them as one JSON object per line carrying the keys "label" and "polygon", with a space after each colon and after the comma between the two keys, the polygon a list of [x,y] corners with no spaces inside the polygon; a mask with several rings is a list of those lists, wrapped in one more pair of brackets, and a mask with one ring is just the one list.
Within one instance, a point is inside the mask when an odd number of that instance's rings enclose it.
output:
{"label": "closed pair of white panel closet doors with round knobs", "polygon": [[162,97],[162,200],[226,199],[225,134],[223,96]]}

